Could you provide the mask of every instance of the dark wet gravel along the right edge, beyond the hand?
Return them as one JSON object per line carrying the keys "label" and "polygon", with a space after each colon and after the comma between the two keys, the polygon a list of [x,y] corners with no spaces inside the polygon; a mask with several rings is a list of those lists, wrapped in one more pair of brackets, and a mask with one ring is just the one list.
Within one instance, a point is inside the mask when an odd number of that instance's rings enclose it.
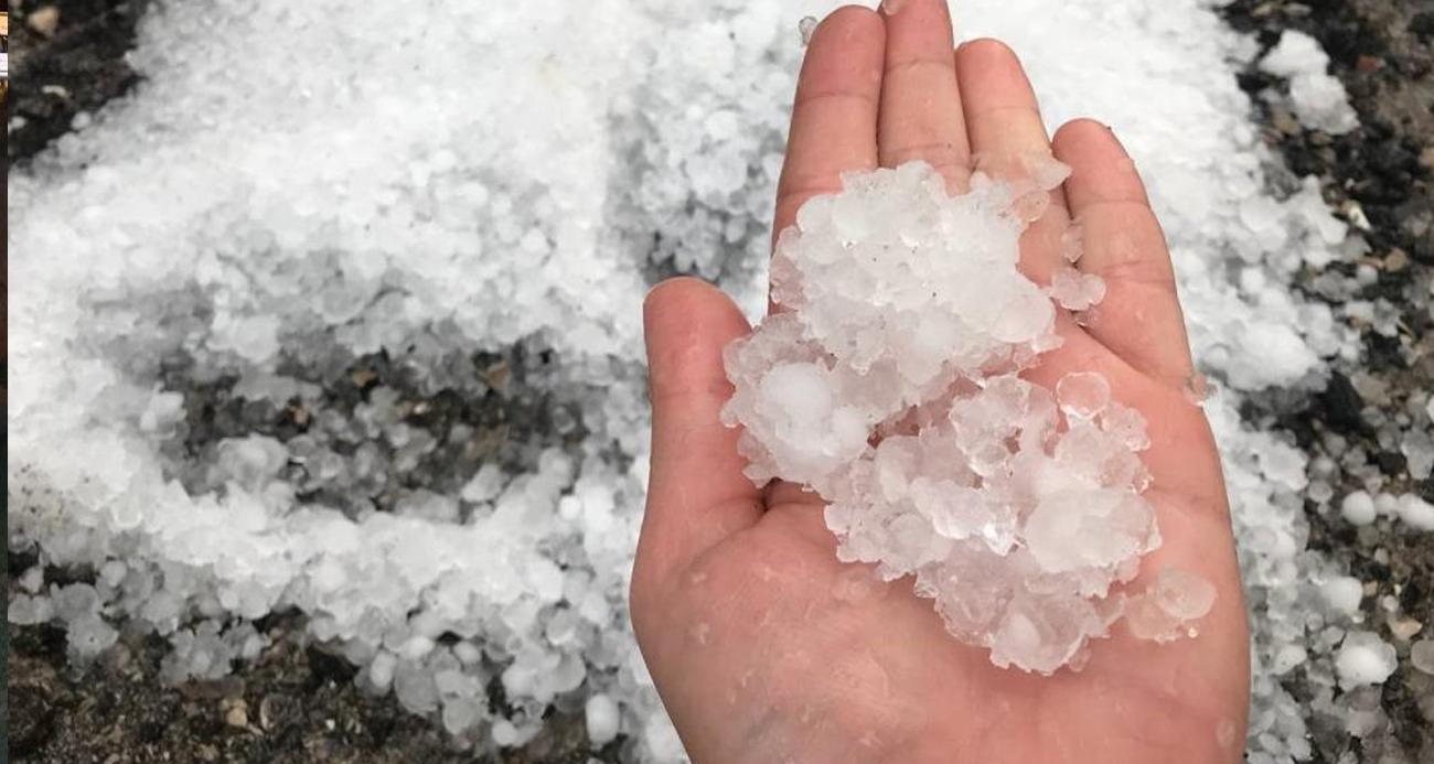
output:
{"label": "dark wet gravel along the right edge, beyond the hand", "polygon": [[[1312,34],[1329,53],[1334,73],[1349,92],[1359,113],[1359,129],[1345,136],[1304,130],[1279,108],[1260,105],[1265,139],[1296,175],[1319,178],[1325,199],[1359,228],[1378,280],[1358,295],[1382,297],[1397,310],[1397,331],[1365,331],[1365,357],[1358,364],[1336,364],[1329,388],[1308,400],[1252,401],[1246,419],[1291,431],[1312,456],[1329,454],[1326,436],[1339,434],[1349,449],[1364,449],[1367,463],[1347,470],[1335,496],[1362,487],[1348,472],[1378,470],[1387,490],[1418,493],[1434,500],[1434,479],[1412,480],[1407,459],[1390,437],[1411,393],[1434,390],[1434,314],[1430,280],[1434,277],[1434,3],[1407,0],[1279,1],[1238,0],[1226,16],[1240,30],[1258,33],[1263,46],[1283,29]],[[1252,95],[1273,83],[1250,72],[1242,86]],[[1367,224],[1361,219],[1368,221]],[[1357,264],[1338,264],[1352,272]],[[1299,287],[1312,298],[1324,287],[1312,274]],[[1425,423],[1427,426],[1427,423]],[[1390,639],[1394,626],[1423,624],[1417,638],[1434,629],[1434,535],[1400,529],[1377,533],[1355,527],[1338,515],[1319,515],[1306,503],[1311,520],[1309,548],[1348,566],[1365,582],[1367,628]],[[1398,603],[1387,608],[1387,598]],[[1398,671],[1381,687],[1387,734],[1351,741],[1345,735],[1315,735],[1316,763],[1334,764],[1347,751],[1361,761],[1434,763],[1434,677],[1420,674],[1400,648]],[[1308,692],[1291,687],[1301,699]],[[1423,702],[1421,699],[1423,698]],[[1325,725],[1316,727],[1329,727]]]}

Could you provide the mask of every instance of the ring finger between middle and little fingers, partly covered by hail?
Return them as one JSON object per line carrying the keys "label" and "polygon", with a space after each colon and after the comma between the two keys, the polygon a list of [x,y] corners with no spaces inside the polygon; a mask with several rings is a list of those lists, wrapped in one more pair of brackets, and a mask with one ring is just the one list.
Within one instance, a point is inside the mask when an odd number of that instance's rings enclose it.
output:
{"label": "ring finger between middle and little fingers, partly covered by hail", "polygon": [[[956,77],[967,136],[979,169],[997,176],[1027,175],[1031,156],[1048,156],[1051,143],[1021,60],[1005,43],[972,40],[956,50]],[[1061,257],[1068,216],[1060,189],[1050,208],[1021,237],[1021,269],[1045,284]]]}

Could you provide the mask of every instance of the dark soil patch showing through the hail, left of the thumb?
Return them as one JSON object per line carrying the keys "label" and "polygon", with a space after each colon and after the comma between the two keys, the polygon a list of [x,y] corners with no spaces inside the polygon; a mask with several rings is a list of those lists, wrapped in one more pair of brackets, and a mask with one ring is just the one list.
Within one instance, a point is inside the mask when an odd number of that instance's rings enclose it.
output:
{"label": "dark soil patch showing through the hail, left of the thumb", "polygon": [[[321,400],[291,398],[275,406],[270,400],[250,400],[235,393],[235,377],[195,383],[192,360],[178,354],[162,364],[161,384],[184,396],[185,426],[182,439],[165,450],[176,464],[212,463],[215,449],[225,439],[267,436],[288,444],[294,437],[311,433],[315,420],[324,414],[338,414],[344,421],[354,419],[354,409],[370,400],[376,390],[397,396],[396,409],[403,411],[403,423],[426,430],[437,446],[423,454],[417,464],[399,470],[391,466],[394,447],[387,439],[369,439],[353,433],[347,439],[333,437],[326,444],[351,457],[361,443],[379,449],[383,477],[370,480],[369,505],[380,512],[391,512],[400,496],[410,490],[432,490],[456,495],[482,464],[496,463],[511,472],[521,472],[536,462],[546,447],[575,447],[587,437],[576,404],[562,400],[548,388],[546,378],[558,366],[551,350],[519,343],[505,353],[478,353],[466,360],[463,371],[472,384],[446,387],[436,393],[413,374],[402,355],[387,351],[357,358],[333,378],[324,378],[308,364],[285,360],[280,364],[284,376],[313,383],[323,388]],[[559,424],[561,423],[561,424]],[[459,436],[457,430],[463,434]],[[377,472],[377,470],[376,470]],[[194,474],[171,474],[185,482],[191,490],[212,490]],[[348,493],[313,487],[307,469],[293,463],[284,477],[294,484],[301,502],[341,509],[356,516]],[[320,486],[323,486],[320,483]]]}

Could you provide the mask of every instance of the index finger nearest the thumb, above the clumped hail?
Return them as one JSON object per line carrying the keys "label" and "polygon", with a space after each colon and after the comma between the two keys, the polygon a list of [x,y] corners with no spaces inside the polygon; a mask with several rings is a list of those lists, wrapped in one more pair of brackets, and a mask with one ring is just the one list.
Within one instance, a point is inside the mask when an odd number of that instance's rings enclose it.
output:
{"label": "index finger nearest the thumb, above the clumped hail", "polygon": [[886,33],[876,11],[837,9],[812,34],[777,183],[776,238],[797,208],[842,189],[842,173],[876,166],[876,110]]}

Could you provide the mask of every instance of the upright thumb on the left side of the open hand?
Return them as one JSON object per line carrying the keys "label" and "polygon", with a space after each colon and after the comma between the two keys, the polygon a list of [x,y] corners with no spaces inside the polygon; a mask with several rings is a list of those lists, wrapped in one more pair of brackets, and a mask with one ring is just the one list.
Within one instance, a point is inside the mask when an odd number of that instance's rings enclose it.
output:
{"label": "upright thumb on the left side of the open hand", "polygon": [[[741,473],[737,430],[718,414],[731,396],[721,353],[750,331],[741,311],[694,278],[660,284],[642,305],[652,397],[652,464],[638,540],[638,579],[661,581],[761,516]],[[654,578],[655,576],[655,578]]]}

